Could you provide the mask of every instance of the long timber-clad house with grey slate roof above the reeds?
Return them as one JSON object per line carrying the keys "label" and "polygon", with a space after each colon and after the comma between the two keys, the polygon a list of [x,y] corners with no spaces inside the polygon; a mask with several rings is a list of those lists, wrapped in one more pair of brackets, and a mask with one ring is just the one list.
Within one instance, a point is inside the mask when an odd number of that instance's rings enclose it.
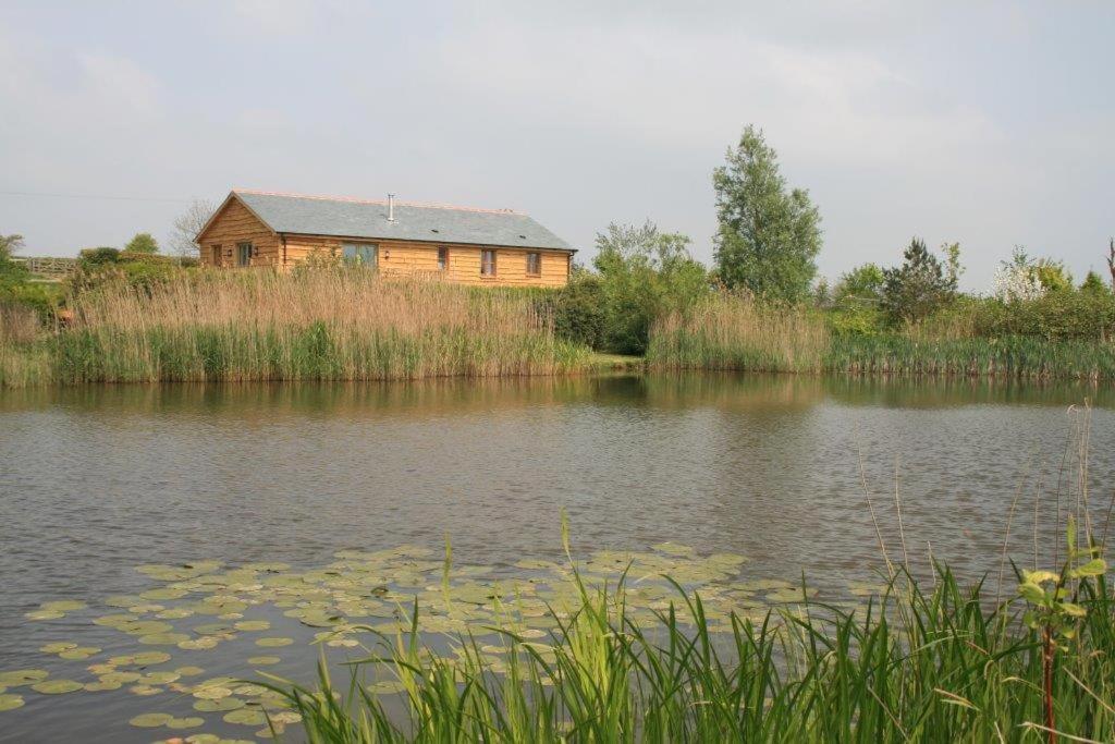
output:
{"label": "long timber-clad house with grey slate roof above the reeds", "polygon": [[197,233],[211,267],[289,269],[311,257],[384,276],[465,284],[563,287],[574,249],[526,214],[236,189]]}

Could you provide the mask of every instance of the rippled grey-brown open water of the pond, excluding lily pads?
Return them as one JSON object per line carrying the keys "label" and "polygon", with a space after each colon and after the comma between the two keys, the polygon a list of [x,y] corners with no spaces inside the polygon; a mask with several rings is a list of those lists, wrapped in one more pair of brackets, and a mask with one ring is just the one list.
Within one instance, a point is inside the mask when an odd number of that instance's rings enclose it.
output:
{"label": "rippled grey-brown open water of the pond, excluding lily pads", "polygon": [[[871,494],[892,559],[904,538],[918,572],[932,554],[968,577],[997,574],[1008,518],[1011,557],[1034,560],[1037,493],[1039,547],[1051,548],[1056,495],[1067,501],[1080,473],[1083,413],[1069,407],[1085,398],[1104,513],[1115,394],[1090,386],[681,374],[0,392],[0,671],[89,682],[86,667],[104,657],[158,648],[91,624],[130,611],[98,605],[105,597],[163,586],[140,564],[306,571],[340,550],[403,544],[437,560],[449,535],[455,563],[513,577],[524,559],[563,560],[562,510],[574,554],[681,543],[746,557],[748,577],[804,572],[838,593],[881,564]],[[89,608],[26,617],[60,600]],[[233,615],[293,638],[271,670],[309,678],[314,628],[263,607]],[[100,650],[39,650],[51,642]],[[165,667],[251,677],[244,659],[261,649],[240,642],[172,647]],[[191,713],[188,695],[148,686],[157,692],[11,687],[26,704],[0,712],[0,741],[175,735],[128,725],[152,711],[252,738],[221,713]]]}

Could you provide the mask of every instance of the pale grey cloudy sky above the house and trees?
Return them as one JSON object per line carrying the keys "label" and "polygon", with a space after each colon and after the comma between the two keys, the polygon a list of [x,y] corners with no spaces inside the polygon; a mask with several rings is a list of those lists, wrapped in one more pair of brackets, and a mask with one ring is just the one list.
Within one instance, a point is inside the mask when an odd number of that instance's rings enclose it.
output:
{"label": "pale grey cloudy sky above the house and trees", "polygon": [[1106,271],[1115,3],[0,0],[0,233],[166,240],[234,186],[609,222],[712,260],[712,168],[763,128],[820,273],[961,244]]}

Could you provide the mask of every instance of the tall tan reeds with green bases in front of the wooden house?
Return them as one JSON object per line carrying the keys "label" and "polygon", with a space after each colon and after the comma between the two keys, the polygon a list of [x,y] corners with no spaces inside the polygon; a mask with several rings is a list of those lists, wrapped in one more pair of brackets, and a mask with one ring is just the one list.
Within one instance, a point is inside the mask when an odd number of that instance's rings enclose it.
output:
{"label": "tall tan reeds with green bases in front of the wooden house", "polygon": [[72,325],[41,344],[42,381],[550,375],[588,361],[529,298],[363,269],[183,273],[71,307]]}

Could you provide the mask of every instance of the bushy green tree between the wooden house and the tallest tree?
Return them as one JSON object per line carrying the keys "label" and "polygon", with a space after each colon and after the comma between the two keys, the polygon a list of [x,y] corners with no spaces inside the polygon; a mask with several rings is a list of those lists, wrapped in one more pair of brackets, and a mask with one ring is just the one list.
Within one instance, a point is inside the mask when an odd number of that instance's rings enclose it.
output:
{"label": "bushy green tree between the wooden house and the tallest tree", "polygon": [[593,265],[600,274],[605,348],[642,354],[656,318],[709,291],[708,273],[688,245],[687,236],[659,232],[650,221],[641,228],[612,223],[597,235]]}

